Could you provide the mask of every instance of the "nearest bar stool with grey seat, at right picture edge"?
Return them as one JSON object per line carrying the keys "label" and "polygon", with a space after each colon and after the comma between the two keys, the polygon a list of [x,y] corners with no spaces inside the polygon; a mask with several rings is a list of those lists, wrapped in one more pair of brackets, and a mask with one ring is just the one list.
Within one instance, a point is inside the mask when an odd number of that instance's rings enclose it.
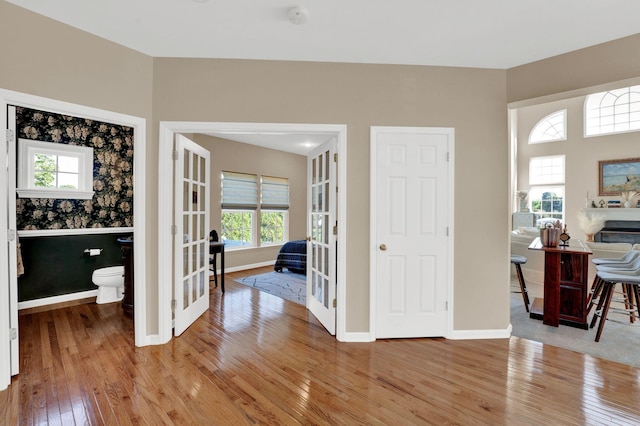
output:
{"label": "nearest bar stool with grey seat, at right picture edge", "polygon": [[600,318],[598,331],[596,332],[596,342],[599,342],[600,337],[602,336],[602,331],[604,330],[604,324],[607,320],[607,315],[609,314],[611,300],[613,299],[613,292],[616,284],[621,284],[625,289],[626,294],[628,295],[629,306],[627,306],[623,311],[625,313],[629,312],[629,314],[632,316],[636,316],[636,313],[634,312],[635,308],[638,317],[640,317],[640,307],[638,306],[638,302],[640,302],[640,270],[636,270],[633,274],[598,271],[598,276],[603,283],[602,297],[598,301],[598,306],[596,307],[590,324],[590,327],[593,328],[598,321],[598,317]]}

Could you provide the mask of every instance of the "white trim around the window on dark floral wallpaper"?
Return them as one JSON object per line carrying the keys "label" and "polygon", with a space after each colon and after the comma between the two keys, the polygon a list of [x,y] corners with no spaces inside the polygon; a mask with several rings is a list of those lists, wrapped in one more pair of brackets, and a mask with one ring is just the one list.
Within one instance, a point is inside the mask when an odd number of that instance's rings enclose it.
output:
{"label": "white trim around the window on dark floral wallpaper", "polygon": [[[37,188],[34,184],[35,154],[64,154],[78,159],[78,189]],[[20,198],[93,198],[93,148],[77,145],[18,139],[18,187]]]}

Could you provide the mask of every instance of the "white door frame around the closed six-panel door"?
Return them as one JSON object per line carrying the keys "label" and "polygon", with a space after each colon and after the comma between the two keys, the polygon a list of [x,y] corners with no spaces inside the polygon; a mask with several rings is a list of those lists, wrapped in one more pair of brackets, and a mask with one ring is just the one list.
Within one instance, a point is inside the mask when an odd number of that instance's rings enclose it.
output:
{"label": "white door frame around the closed six-panel door", "polygon": [[[429,129],[430,131],[439,131],[446,130],[450,131],[451,128],[441,128],[441,127],[396,127],[396,126],[372,126],[371,127],[371,140],[370,140],[370,245],[369,245],[369,276],[371,277],[371,289],[369,291],[369,330],[371,332],[372,339],[376,339],[376,317],[377,317],[377,299],[376,295],[378,292],[378,280],[377,280],[377,271],[376,271],[376,256],[378,253],[378,247],[376,245],[375,238],[373,238],[376,233],[376,224],[377,224],[377,215],[375,206],[378,201],[378,193],[376,191],[376,178],[377,178],[377,147],[375,142],[375,136],[380,132],[416,132],[420,130]],[[448,301],[448,309],[447,309],[447,330],[444,337],[450,338],[453,336],[453,313],[454,313],[454,298],[453,298],[453,265],[454,265],[454,152],[455,152],[455,140],[452,138],[450,141],[451,145],[449,146],[449,170],[448,170],[448,198],[449,198],[449,217],[447,218],[449,226],[449,252],[447,253],[447,301]]]}

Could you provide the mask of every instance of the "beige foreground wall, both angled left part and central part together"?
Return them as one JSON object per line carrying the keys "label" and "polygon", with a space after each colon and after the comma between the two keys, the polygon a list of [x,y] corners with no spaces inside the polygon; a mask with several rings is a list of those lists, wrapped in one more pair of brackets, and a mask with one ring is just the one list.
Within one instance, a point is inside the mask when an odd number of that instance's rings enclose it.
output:
{"label": "beige foreground wall, both angled left part and central part together", "polygon": [[[507,327],[508,244],[500,232],[508,218],[506,71],[151,60],[5,2],[0,34],[12,41],[2,47],[0,87],[152,118],[145,153],[150,321],[157,304],[158,123],[243,121],[348,126],[347,281],[341,285],[349,332],[369,328],[370,126],[455,128],[453,327]],[[148,332],[154,331],[157,324],[150,323]]]}

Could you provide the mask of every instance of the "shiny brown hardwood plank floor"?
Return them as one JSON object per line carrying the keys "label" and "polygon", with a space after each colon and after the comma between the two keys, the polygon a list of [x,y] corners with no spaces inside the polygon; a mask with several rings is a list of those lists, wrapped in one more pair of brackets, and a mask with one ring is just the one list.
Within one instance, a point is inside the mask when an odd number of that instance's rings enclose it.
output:
{"label": "shiny brown hardwood plank floor", "polygon": [[[269,269],[269,268],[267,268]],[[513,337],[340,343],[233,282],[182,336],[136,348],[119,304],[20,316],[6,424],[639,424],[640,370]]]}

